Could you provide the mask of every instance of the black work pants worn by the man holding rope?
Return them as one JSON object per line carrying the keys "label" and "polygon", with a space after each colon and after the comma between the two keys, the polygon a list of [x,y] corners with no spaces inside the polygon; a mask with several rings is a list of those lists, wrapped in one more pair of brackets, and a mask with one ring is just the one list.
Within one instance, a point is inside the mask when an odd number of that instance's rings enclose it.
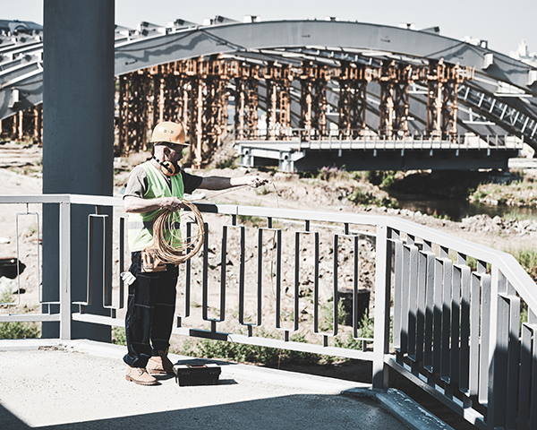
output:
{"label": "black work pants worn by the man holding rope", "polygon": [[127,354],[124,362],[132,367],[146,367],[158,350],[169,347],[175,314],[177,267],[166,271],[141,273],[141,253],[132,253],[130,271],[136,277],[129,286],[125,315]]}

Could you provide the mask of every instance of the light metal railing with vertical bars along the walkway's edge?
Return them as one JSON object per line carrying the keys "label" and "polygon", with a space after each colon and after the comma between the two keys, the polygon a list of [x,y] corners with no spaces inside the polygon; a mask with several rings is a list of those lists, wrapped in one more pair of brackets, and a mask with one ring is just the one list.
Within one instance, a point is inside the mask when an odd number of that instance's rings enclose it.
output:
{"label": "light metal railing with vertical bars along the walkway's edge", "polygon": [[[15,203],[27,205],[34,203],[59,204],[61,208],[61,225],[63,223],[63,228],[65,228],[65,226],[71,226],[72,213],[70,208],[72,204],[121,207],[123,206],[123,199],[121,197],[81,194],[0,195],[0,204]],[[528,369],[531,369],[531,366],[533,366],[531,362],[527,361],[527,354],[529,354],[527,352],[528,348],[530,352],[532,348],[537,350],[535,349],[537,348],[537,288],[532,278],[516,262],[516,259],[512,255],[488,246],[473,243],[463,237],[452,236],[445,232],[422,226],[410,220],[390,216],[344,213],[340,211],[262,208],[207,202],[196,204],[203,214],[207,214],[208,219],[209,214],[231,217],[231,222],[225,226],[221,236],[221,240],[223,241],[221,250],[223,254],[222,262],[226,262],[226,248],[231,248],[230,246],[226,246],[227,242],[224,243],[224,241],[228,240],[227,236],[229,236],[224,231],[227,232],[228,228],[240,227],[243,232],[243,226],[237,224],[239,217],[267,219],[267,225],[261,229],[269,231],[282,232],[286,230],[287,224],[282,224],[277,228],[275,227],[275,220],[278,219],[282,219],[284,222],[285,220],[291,221],[291,226],[298,224],[298,227],[291,228],[290,232],[292,234],[294,231],[295,235],[294,297],[298,297],[297,295],[300,291],[298,284],[300,261],[298,256],[300,256],[301,252],[299,246],[302,246],[299,245],[300,235],[315,233],[316,247],[319,246],[319,232],[325,232],[328,235],[323,239],[325,243],[327,243],[326,237],[332,235],[335,247],[337,246],[337,237],[354,236],[354,245],[349,248],[349,252],[354,249],[354,253],[359,254],[359,245],[356,245],[359,244],[357,237],[362,236],[362,230],[359,228],[369,228],[372,230],[367,236],[371,234],[376,237],[376,257],[374,262],[376,271],[374,339],[369,340],[370,346],[371,341],[373,342],[373,350],[371,352],[371,347],[369,351],[367,348],[359,351],[353,348],[339,348],[329,345],[328,339],[337,335],[336,325],[334,326],[335,329],[333,332],[318,332],[315,330],[322,337],[322,345],[294,341],[289,334],[298,328],[296,320],[298,316],[296,307],[298,300],[296,299],[293,305],[294,328],[288,327],[283,329],[283,340],[256,337],[252,330],[254,327],[260,325],[260,318],[258,318],[257,323],[245,323],[243,321],[243,314],[241,313],[239,313],[241,314],[240,323],[247,329],[248,334],[217,331],[217,324],[223,323],[224,318],[211,319],[207,314],[208,305],[205,299],[203,304],[203,319],[210,323],[210,330],[203,331],[198,328],[185,327],[182,324],[183,316],[177,314],[175,333],[193,337],[228,340],[273,348],[288,348],[297,351],[371,360],[373,362],[373,386],[377,388],[385,386],[386,369],[387,366],[390,366],[397,372],[405,375],[413,383],[430,391],[439,400],[481,428],[489,425],[503,426],[505,423],[512,423],[514,414],[516,413],[521,414],[519,419],[522,422],[532,417],[533,410],[530,409],[528,411],[524,409],[524,401],[520,405],[517,405],[515,404],[516,401],[511,399],[507,402],[507,406],[504,406],[504,388],[507,387],[507,390],[512,396],[512,393],[516,391],[518,374],[515,373],[515,370],[510,370],[506,374],[503,367],[507,366],[510,369],[516,369],[517,366],[520,366],[521,374],[523,373],[523,369],[524,372],[528,372]],[[302,223],[303,227],[300,227]],[[81,225],[84,225],[84,223],[81,223]],[[325,229],[323,230],[323,228]],[[68,230],[63,231],[64,238],[63,242],[61,242],[63,244],[61,247],[64,247],[63,252],[66,253],[64,254],[65,256],[71,252],[69,245],[70,236]],[[261,239],[260,232],[261,230],[258,230],[258,240]],[[214,232],[212,234],[215,235]],[[286,240],[288,240],[288,237]],[[360,240],[365,241],[365,239]],[[90,244],[90,237],[88,241]],[[243,242],[244,240],[241,239],[241,244],[238,248],[240,254],[243,254],[246,249]],[[279,242],[274,245],[277,245],[278,248],[281,246]],[[287,243],[287,245],[289,244]],[[433,253],[432,245],[439,246],[439,250]],[[288,247],[292,252],[293,246],[290,245]],[[263,245],[261,241],[257,244],[256,248],[258,249],[259,265],[263,259]],[[456,262],[450,260],[450,251],[456,253]],[[204,251],[204,253],[204,258],[200,259],[197,264],[198,276],[203,279],[203,282],[201,282],[203,294],[206,295],[208,293],[207,280],[209,276],[206,254],[209,253],[207,251]],[[316,253],[319,254],[318,251]],[[333,297],[337,297],[338,294],[336,268],[341,263],[336,254],[334,253],[335,256],[333,257],[335,269],[332,273],[332,278],[334,288],[336,288],[333,291]],[[471,270],[469,267],[468,257],[473,257],[477,260],[476,270]],[[418,263],[416,259],[420,259],[420,262]],[[253,260],[255,261],[255,259]],[[394,267],[392,267],[392,260],[395,264]],[[279,260],[277,263],[276,288],[279,291],[281,285],[278,279],[281,268],[279,267]],[[103,303],[103,305],[107,305],[106,307],[113,311],[109,317],[86,314],[83,311],[84,303],[79,303],[81,305],[81,312],[72,313],[72,300],[69,291],[70,280],[68,275],[71,269],[69,262],[64,260],[63,264],[64,266],[61,270],[62,280],[59,281],[59,285],[62,288],[67,288],[67,290],[63,291],[60,295],[60,316],[56,314],[0,315],[0,322],[60,321],[63,330],[62,339],[69,339],[71,336],[70,323],[73,320],[86,323],[123,325],[123,322],[115,319],[115,311],[119,308],[111,307],[109,304]],[[221,271],[219,282],[221,286],[225,286],[227,276],[226,264],[222,264],[224,268]],[[239,264],[241,265],[241,270],[244,270],[244,259],[241,259]],[[293,265],[293,262],[290,262],[290,264]],[[320,266],[320,259],[314,261],[313,264],[315,266],[314,272],[317,273]],[[356,279],[356,274],[358,273],[356,271],[357,260],[353,264],[354,295],[356,295],[358,286],[358,280]],[[487,268],[487,265],[490,265],[490,270]],[[187,262],[185,267],[185,270],[188,271],[188,282],[191,282],[193,276],[191,273],[191,261]],[[271,272],[271,276],[275,275]],[[216,280],[216,282],[218,281]],[[258,273],[258,282],[260,282],[260,273]],[[318,306],[319,290],[317,280],[315,280],[315,286],[313,293],[314,306]],[[187,288],[190,288],[190,284]],[[239,288],[239,290],[242,291],[239,293],[240,301],[243,301],[244,288]],[[226,294],[226,288],[220,289],[219,291],[220,295]],[[258,295],[260,294],[259,291]],[[120,295],[120,297],[123,296]],[[274,298],[275,300],[280,300],[277,297]],[[528,321],[520,323],[523,331],[522,335],[518,323],[520,321],[521,299],[529,309]],[[414,303],[416,300],[420,301],[420,303]],[[221,315],[224,315],[222,312],[222,306],[225,308],[224,303],[225,300],[221,297]],[[281,305],[280,302],[275,303],[277,303],[277,306]],[[391,314],[390,303],[393,303],[393,330],[390,329],[389,321]],[[337,300],[332,301],[332,306],[336,306],[334,307],[334,314],[337,315]],[[280,312],[279,308],[277,312]],[[318,311],[316,310],[315,312]],[[188,316],[189,314],[187,312],[184,318]],[[334,323],[337,324],[336,317]],[[362,340],[363,338],[356,337],[355,324],[354,322],[354,340]],[[279,323],[277,323],[277,328],[279,326]],[[433,326],[434,332],[432,332]],[[394,336],[393,349],[389,348],[390,331],[393,331]],[[430,342],[430,344],[427,342]],[[423,348],[425,348],[425,355],[429,354],[429,358],[427,358],[427,366],[425,366],[425,361],[423,361],[423,368],[420,370],[418,364],[422,360],[425,360],[422,357],[424,354]],[[463,349],[459,351],[459,348],[465,348],[464,352]],[[519,348],[520,353],[518,352]],[[434,351],[434,356],[431,355],[431,351]],[[459,365],[465,366],[466,374],[463,376],[457,375],[459,371],[456,366]],[[531,371],[535,372],[534,369]],[[420,374],[420,372],[424,374]],[[458,379],[451,381],[452,372],[454,372],[453,378],[462,377],[463,379],[461,381],[467,383],[469,388],[465,388],[465,386],[459,388],[456,385]],[[446,383],[445,390],[438,386],[437,380],[435,379],[436,376],[439,376]],[[524,378],[524,375],[521,376],[521,384],[522,378]],[[468,382],[468,379],[471,382]],[[524,393],[531,391],[533,396],[537,396],[537,386],[534,385],[537,384],[524,381],[524,384],[521,385],[521,390],[524,390]],[[457,400],[453,392],[454,390],[465,397],[465,400]],[[472,396],[476,395],[475,400],[472,400]],[[466,406],[461,406],[463,404],[461,401]],[[481,403],[482,407],[490,407],[494,408],[494,410],[490,410],[488,414],[482,414],[478,409],[472,408],[472,401],[477,401]]]}

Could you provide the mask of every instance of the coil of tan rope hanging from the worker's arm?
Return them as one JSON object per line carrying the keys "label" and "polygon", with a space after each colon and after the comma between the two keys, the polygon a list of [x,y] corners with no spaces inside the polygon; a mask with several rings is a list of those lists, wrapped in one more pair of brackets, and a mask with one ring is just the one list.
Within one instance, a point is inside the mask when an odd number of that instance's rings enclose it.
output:
{"label": "coil of tan rope hanging from the worker's arm", "polygon": [[[190,260],[200,251],[205,241],[205,228],[200,210],[192,202],[182,200],[183,205],[192,211],[198,227],[194,236],[181,237],[180,226],[175,225],[177,215],[174,211],[162,210],[153,221],[153,247],[157,257],[165,263],[180,264]],[[179,244],[179,245],[175,245]]]}

